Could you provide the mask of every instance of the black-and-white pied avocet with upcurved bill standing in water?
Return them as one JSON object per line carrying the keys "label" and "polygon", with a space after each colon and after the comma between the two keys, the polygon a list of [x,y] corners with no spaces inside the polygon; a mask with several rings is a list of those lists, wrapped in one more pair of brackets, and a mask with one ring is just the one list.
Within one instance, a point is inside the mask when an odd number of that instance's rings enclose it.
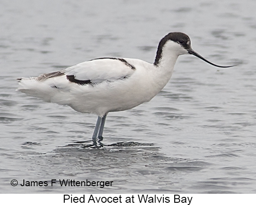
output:
{"label": "black-and-white pied avocet with upcurved bill standing in water", "polygon": [[170,32],[159,42],[154,63],[133,58],[101,57],[64,70],[19,78],[18,91],[46,102],[68,105],[98,116],[92,141],[103,140],[106,116],[150,101],[171,79],[177,58],[191,54],[216,67],[191,48],[190,37]]}

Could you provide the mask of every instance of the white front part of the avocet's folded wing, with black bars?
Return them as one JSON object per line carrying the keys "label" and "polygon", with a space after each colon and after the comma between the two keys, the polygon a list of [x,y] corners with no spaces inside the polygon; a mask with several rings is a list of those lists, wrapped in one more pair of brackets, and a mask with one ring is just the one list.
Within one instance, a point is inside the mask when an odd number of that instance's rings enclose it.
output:
{"label": "white front part of the avocet's folded wing, with black bars", "polygon": [[71,82],[92,84],[124,79],[132,75],[135,70],[134,65],[123,58],[99,58],[73,65],[61,72]]}

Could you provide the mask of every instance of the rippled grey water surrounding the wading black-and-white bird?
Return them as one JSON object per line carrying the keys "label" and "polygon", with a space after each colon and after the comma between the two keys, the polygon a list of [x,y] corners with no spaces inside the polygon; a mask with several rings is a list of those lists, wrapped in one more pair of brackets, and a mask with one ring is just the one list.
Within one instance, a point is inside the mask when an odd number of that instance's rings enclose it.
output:
{"label": "rippled grey water surrounding the wading black-and-white bird", "polygon": [[[0,193],[255,193],[255,8],[255,0],[0,0]],[[19,77],[97,57],[153,62],[172,31],[208,60],[239,65],[179,57],[154,99],[108,115],[103,148],[88,148],[97,116],[15,91]],[[23,179],[113,185],[22,187]]]}

